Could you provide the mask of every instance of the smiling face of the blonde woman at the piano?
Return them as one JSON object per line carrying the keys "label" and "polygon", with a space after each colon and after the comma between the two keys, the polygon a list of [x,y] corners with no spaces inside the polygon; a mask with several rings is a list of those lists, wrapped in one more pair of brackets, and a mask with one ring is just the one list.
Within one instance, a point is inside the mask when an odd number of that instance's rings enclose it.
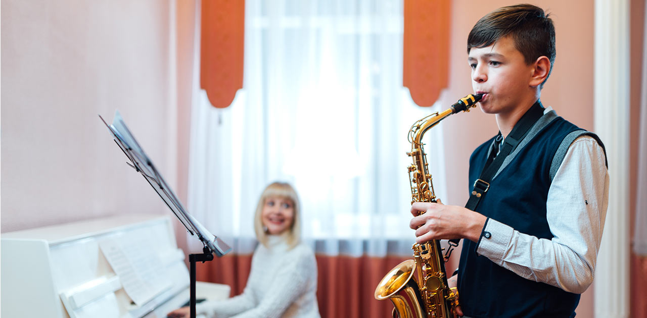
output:
{"label": "smiling face of the blonde woman at the piano", "polygon": [[270,196],[265,199],[261,212],[263,226],[270,235],[283,234],[294,221],[294,203],[289,198]]}

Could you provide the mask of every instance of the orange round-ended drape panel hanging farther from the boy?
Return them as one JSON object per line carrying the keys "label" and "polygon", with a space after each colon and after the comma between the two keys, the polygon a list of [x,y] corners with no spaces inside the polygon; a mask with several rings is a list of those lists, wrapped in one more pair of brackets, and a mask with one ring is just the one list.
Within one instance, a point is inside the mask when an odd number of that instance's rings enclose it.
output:
{"label": "orange round-ended drape panel hanging farther from the boy", "polygon": [[202,1],[200,87],[214,107],[231,105],[243,88],[245,1]]}

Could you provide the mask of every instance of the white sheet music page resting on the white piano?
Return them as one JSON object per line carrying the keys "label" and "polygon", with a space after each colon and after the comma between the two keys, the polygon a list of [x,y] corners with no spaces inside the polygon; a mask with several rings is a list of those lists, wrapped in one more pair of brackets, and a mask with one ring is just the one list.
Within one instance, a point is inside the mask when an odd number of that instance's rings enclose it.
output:
{"label": "white sheet music page resting on the white piano", "polygon": [[124,291],[142,306],[162,291],[171,288],[162,276],[162,262],[151,239],[144,235],[124,234],[99,242],[105,259],[118,275]]}

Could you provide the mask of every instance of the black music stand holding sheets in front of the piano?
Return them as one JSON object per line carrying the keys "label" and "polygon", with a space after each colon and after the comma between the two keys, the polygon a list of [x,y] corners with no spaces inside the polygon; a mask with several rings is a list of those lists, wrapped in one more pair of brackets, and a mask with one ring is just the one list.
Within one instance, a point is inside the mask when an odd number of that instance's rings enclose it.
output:
{"label": "black music stand holding sheets in front of the piano", "polygon": [[162,175],[153,165],[153,162],[148,158],[144,149],[137,143],[135,136],[131,134],[130,130],[124,123],[119,111],[115,112],[113,124],[108,125],[104,118],[99,115],[105,126],[108,127],[110,133],[113,134],[115,143],[119,146],[124,154],[128,157],[131,163],[126,162],[127,165],[135,169],[138,173],[144,176],[144,179],[155,189],[155,192],[164,200],[175,217],[180,220],[184,228],[194,237],[199,238],[203,242],[202,254],[189,254],[189,262],[191,265],[190,273],[190,312],[191,318],[195,318],[195,262],[208,262],[214,259],[214,253],[217,257],[221,257],[229,253],[232,248],[228,246],[223,240],[211,234],[200,222],[195,220],[189,213],[186,212],[182,202],[175,196],[171,187],[166,184]]}

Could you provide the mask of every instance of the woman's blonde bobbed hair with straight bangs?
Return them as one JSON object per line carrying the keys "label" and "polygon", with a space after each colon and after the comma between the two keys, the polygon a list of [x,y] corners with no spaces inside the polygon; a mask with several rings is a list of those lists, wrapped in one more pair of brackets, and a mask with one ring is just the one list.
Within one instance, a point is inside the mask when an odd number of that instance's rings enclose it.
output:
{"label": "woman's blonde bobbed hair with straight bangs", "polygon": [[261,197],[258,199],[256,205],[256,215],[254,216],[254,231],[256,231],[256,238],[261,244],[267,246],[267,232],[263,228],[263,220],[261,220],[261,212],[265,206],[265,200],[270,197],[287,198],[292,201],[294,207],[294,218],[292,219],[292,226],[285,233],[285,241],[289,248],[294,248],[301,242],[301,203],[299,196],[294,191],[294,188],[287,182],[274,182],[265,187]]}

